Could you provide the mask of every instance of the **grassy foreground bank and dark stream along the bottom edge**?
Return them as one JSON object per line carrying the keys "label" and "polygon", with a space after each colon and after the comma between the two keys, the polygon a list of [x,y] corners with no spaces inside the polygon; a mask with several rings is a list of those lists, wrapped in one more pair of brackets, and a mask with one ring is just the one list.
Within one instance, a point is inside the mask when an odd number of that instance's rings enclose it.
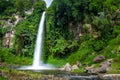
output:
{"label": "grassy foreground bank and dark stream along the bottom edge", "polygon": [[[12,66],[12,67],[11,67]],[[120,74],[81,74],[65,71],[21,71],[19,65],[4,64],[0,66],[0,80],[119,80]]]}

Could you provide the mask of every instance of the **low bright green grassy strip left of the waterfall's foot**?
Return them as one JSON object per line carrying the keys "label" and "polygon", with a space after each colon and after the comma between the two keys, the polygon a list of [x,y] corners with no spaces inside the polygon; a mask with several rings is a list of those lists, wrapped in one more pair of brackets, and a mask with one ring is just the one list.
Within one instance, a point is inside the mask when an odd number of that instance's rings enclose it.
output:
{"label": "low bright green grassy strip left of the waterfall's foot", "polygon": [[0,47],[0,61],[9,64],[26,65],[32,64],[31,58],[19,57],[10,53],[10,49]]}

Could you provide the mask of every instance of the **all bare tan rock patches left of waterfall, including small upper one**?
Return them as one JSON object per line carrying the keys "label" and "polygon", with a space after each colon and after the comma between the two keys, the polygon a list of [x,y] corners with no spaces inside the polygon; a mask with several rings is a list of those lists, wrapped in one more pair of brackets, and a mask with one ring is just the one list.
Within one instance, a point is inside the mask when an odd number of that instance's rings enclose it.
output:
{"label": "all bare tan rock patches left of waterfall, including small upper one", "polygon": [[[33,8],[28,10],[28,11],[25,11],[24,14],[26,15],[31,15],[33,12]],[[22,20],[25,20],[26,19],[26,16],[25,17],[21,17],[20,15],[16,15],[15,13],[13,13],[13,17],[14,20],[12,19],[8,19],[8,20],[1,20],[3,23],[2,28],[6,28],[7,31],[6,33],[4,33],[4,36],[3,36],[3,39],[2,39],[2,46],[3,47],[7,47],[7,48],[12,48],[13,44],[14,44],[14,33],[15,33],[15,27],[16,25],[22,21]]]}

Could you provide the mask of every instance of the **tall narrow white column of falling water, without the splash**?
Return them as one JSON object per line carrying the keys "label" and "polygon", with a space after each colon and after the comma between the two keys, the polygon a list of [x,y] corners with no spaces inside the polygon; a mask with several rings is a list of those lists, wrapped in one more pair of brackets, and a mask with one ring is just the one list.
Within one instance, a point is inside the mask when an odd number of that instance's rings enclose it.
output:
{"label": "tall narrow white column of falling water, without the splash", "polygon": [[45,20],[45,11],[42,14],[41,21],[39,24],[36,45],[34,50],[33,66],[38,67],[42,64],[41,55],[42,55],[42,35],[44,30],[44,20]]}

